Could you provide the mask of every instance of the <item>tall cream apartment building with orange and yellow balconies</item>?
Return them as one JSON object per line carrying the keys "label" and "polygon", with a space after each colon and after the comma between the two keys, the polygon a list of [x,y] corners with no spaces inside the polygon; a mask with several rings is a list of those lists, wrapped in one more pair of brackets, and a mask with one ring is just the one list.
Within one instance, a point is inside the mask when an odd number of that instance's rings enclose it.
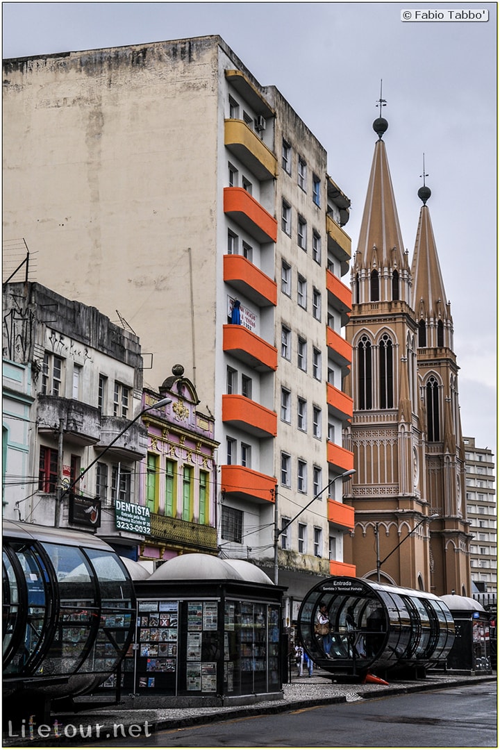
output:
{"label": "tall cream apartment building with orange and yellow balconies", "polygon": [[274,568],[289,616],[355,574],[350,204],[325,148],[218,36],[7,60],[4,82],[5,238],[126,321],[146,387],[183,363],[220,444],[220,553]]}

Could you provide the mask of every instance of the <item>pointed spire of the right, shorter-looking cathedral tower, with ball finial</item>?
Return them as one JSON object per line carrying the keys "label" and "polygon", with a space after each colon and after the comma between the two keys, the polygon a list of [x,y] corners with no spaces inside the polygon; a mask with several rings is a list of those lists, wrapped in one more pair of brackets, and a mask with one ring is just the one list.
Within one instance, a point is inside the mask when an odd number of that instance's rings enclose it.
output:
{"label": "pointed spire of the right, shorter-looking cathedral tower, with ball finial", "polygon": [[424,205],[421,207],[418,220],[412,260],[412,308],[415,310],[418,325],[421,326],[420,346],[453,349],[453,319],[450,304],[446,302],[445,284],[427,206],[430,195],[430,189],[425,184],[418,190],[418,196]]}

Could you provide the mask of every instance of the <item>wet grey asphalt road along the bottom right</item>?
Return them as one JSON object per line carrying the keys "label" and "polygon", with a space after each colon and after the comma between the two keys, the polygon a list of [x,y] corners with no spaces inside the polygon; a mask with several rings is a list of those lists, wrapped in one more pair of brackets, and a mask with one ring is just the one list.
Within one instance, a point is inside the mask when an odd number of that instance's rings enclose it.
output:
{"label": "wet grey asphalt road along the bottom right", "polygon": [[[211,721],[150,737],[106,739],[120,747],[497,746],[496,684],[310,706],[283,714]],[[85,743],[98,747],[97,743]]]}

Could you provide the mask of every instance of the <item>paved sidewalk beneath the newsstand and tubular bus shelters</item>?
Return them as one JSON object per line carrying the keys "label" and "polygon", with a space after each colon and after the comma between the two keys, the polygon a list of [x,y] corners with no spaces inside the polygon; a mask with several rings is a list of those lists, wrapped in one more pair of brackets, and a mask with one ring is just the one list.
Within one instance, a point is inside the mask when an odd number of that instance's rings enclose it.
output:
{"label": "paved sidewalk beneath the newsstand and tubular bus shelters", "polygon": [[[151,708],[130,709],[118,703],[82,712],[58,712],[52,715],[50,733],[44,738],[37,736],[37,727],[33,728],[33,739],[29,736],[28,726],[24,738],[13,736],[15,731],[4,733],[2,747],[28,747],[41,745],[85,745],[85,741],[96,742],[116,736],[136,736],[143,739],[147,747],[147,736],[160,729],[175,729],[208,721],[221,721],[225,718],[241,718],[254,714],[272,714],[307,706],[319,706],[325,703],[344,703],[366,700],[384,695],[412,693],[436,690],[458,685],[474,685],[478,682],[496,682],[496,673],[492,675],[452,675],[451,673],[431,673],[426,679],[394,681],[389,685],[340,683],[332,682],[326,672],[316,670],[312,677],[292,677],[292,682],[283,685],[283,700],[267,700],[252,703],[250,706],[215,706],[197,708]],[[154,697],[151,697],[151,703]],[[54,722],[57,724],[54,729]],[[82,728],[80,728],[82,727]],[[99,727],[99,729],[97,729]],[[135,728],[134,728],[135,727]],[[87,736],[85,736],[87,735]],[[138,743],[139,744],[139,743]]]}

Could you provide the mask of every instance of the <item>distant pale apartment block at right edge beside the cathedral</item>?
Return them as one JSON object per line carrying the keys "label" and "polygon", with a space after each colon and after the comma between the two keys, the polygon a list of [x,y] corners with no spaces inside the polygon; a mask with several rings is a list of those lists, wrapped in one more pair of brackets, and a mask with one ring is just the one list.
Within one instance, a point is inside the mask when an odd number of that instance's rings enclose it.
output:
{"label": "distant pale apartment block at right edge beside the cathedral", "polygon": [[490,448],[478,448],[474,437],[464,437],[466,502],[471,541],[471,577],[475,596],[496,602],[496,487],[495,462]]}

